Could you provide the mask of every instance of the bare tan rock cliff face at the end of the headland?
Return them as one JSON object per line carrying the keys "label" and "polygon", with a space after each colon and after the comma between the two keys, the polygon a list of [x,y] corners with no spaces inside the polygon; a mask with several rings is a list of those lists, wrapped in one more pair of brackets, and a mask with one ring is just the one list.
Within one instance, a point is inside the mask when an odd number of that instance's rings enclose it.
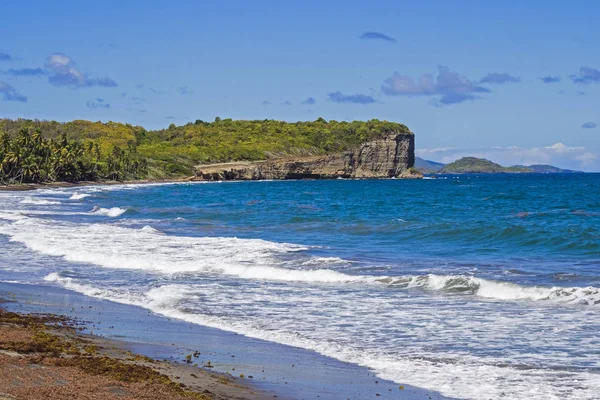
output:
{"label": "bare tan rock cliff face at the end of the headland", "polygon": [[412,134],[388,134],[354,151],[329,156],[199,165],[197,180],[412,178],[415,163]]}

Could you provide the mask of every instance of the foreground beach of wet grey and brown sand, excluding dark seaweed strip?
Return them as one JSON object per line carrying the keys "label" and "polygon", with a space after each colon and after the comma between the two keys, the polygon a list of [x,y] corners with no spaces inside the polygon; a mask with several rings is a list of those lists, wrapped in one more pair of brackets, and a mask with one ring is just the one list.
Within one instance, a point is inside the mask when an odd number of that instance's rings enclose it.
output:
{"label": "foreground beach of wet grey and brown sand, excluding dark seaweed strip", "polygon": [[[84,355],[85,348],[94,345],[94,357],[148,367],[164,374],[170,382],[183,384],[185,390],[185,394],[179,389],[173,391],[170,383],[132,384],[110,375],[85,373],[73,366],[57,366],[51,362],[56,361],[54,358],[40,364],[40,354],[0,350],[3,400],[189,396],[239,400],[445,399],[435,392],[401,388],[364,368],[301,349],[161,318],[136,307],[86,298],[59,288],[0,283],[0,299],[0,349],[31,336],[26,326],[8,323],[7,313],[18,313],[25,325],[31,322],[30,315],[33,322],[37,322],[36,318],[64,320],[67,328],[47,331],[66,343],[77,343]],[[187,362],[188,355],[191,363]],[[73,356],[61,355],[61,359],[65,357]],[[195,394],[200,397],[194,397]]]}

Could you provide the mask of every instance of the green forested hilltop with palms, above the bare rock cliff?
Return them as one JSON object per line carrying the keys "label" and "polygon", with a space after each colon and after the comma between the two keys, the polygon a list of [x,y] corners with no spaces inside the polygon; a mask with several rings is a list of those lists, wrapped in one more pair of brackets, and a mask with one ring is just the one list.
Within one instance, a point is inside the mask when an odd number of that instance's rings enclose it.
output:
{"label": "green forested hilltop with palms, above the bare rock cliff", "polygon": [[201,163],[331,154],[392,132],[412,134],[375,119],[216,118],[155,131],[117,122],[0,119],[0,183],[186,176]]}

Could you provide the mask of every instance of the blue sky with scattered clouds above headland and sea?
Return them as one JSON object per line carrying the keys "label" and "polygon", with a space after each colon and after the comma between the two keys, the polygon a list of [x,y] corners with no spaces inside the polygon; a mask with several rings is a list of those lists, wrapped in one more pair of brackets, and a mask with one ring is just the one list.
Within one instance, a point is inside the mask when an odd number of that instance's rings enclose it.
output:
{"label": "blue sky with scattered clouds above headland and sea", "polygon": [[600,171],[600,2],[3,2],[0,118],[406,124],[449,162]]}

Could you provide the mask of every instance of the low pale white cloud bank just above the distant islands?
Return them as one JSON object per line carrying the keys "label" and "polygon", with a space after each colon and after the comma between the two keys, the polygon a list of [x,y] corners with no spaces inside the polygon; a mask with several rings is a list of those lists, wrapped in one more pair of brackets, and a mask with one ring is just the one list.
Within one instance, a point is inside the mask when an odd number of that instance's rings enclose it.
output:
{"label": "low pale white cloud bank just above the distant islands", "polygon": [[584,146],[567,146],[555,143],[546,147],[497,146],[476,149],[455,147],[417,149],[417,156],[443,163],[450,163],[461,157],[486,158],[504,166],[550,164],[559,168],[581,171],[600,171],[598,151]]}

